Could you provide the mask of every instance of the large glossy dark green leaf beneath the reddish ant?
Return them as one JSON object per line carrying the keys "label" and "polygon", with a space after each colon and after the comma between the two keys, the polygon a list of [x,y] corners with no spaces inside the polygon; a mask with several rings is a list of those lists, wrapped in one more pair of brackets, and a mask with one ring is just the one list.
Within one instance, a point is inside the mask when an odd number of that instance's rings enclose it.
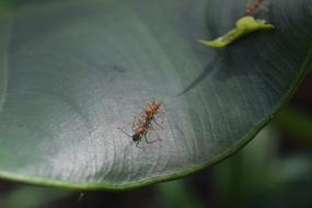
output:
{"label": "large glossy dark green leaf beneath the reddish ant", "polygon": [[[274,0],[276,28],[223,49],[232,0],[30,1],[1,18],[0,176],[124,189],[229,157],[289,100],[311,63],[310,0]],[[151,99],[162,141],[136,148],[128,127]]]}

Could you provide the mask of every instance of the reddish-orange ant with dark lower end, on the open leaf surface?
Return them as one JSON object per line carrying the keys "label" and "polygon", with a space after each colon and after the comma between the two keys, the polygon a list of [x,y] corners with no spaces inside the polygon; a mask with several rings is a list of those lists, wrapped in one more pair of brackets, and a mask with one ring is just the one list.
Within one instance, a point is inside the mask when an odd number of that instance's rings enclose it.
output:
{"label": "reddish-orange ant with dark lower end, on the open leaf surface", "polygon": [[136,142],[137,148],[139,148],[138,145],[141,141],[142,137],[146,139],[147,143],[152,143],[152,142],[155,142],[158,140],[161,140],[157,134],[158,139],[154,141],[149,141],[147,135],[148,135],[148,130],[155,130],[152,127],[152,122],[161,127],[161,125],[157,123],[154,116],[157,114],[164,113],[164,112],[160,112],[160,107],[162,104],[163,104],[162,102],[157,103],[153,100],[152,103],[148,104],[148,106],[143,109],[143,115],[141,116],[141,119],[138,119],[138,123],[136,123],[136,117],[134,118],[132,128],[131,128],[134,131],[134,135],[127,134],[124,129],[122,129],[119,127],[118,127],[118,129],[122,130],[129,138],[131,138],[132,141]]}

